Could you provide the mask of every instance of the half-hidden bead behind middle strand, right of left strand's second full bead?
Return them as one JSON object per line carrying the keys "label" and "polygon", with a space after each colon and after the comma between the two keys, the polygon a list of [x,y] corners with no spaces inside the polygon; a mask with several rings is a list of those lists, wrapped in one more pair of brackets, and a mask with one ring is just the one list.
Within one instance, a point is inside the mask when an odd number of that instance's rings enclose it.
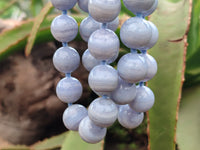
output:
{"label": "half-hidden bead behind middle strand, right of left strand's second full bead", "polygon": [[83,63],[83,66],[85,67],[85,69],[87,69],[87,71],[91,71],[95,66],[99,65],[101,63],[101,61],[94,58],[90,54],[90,51],[87,49],[83,53],[82,63]]}

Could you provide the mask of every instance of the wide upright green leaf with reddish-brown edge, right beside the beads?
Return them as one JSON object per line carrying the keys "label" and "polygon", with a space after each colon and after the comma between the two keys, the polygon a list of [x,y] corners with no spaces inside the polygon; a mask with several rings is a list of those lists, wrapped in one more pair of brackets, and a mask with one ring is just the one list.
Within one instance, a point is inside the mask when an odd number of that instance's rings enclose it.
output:
{"label": "wide upright green leaf with reddish-brown edge, right beside the beads", "polygon": [[189,1],[160,0],[157,11],[150,19],[160,32],[158,43],[150,50],[158,63],[158,73],[148,83],[156,98],[154,107],[149,111],[151,150],[175,150],[176,116],[184,80],[189,8]]}

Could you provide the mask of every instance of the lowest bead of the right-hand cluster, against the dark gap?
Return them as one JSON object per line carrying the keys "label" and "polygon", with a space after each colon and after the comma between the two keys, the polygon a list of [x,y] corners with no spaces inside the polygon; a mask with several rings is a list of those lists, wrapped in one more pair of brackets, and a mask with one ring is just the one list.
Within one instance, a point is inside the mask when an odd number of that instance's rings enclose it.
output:
{"label": "lowest bead of the right-hand cluster, against the dark gap", "polygon": [[144,119],[144,113],[135,112],[129,105],[122,105],[119,107],[118,121],[128,129],[138,127]]}

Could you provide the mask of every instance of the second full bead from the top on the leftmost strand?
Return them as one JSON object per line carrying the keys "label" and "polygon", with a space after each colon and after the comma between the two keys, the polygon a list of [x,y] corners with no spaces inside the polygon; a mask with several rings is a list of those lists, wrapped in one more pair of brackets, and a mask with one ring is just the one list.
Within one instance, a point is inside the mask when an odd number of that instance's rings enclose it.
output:
{"label": "second full bead from the top on the leftmost strand", "polygon": [[58,71],[65,74],[71,73],[79,67],[80,56],[71,47],[61,47],[53,56],[53,64]]}

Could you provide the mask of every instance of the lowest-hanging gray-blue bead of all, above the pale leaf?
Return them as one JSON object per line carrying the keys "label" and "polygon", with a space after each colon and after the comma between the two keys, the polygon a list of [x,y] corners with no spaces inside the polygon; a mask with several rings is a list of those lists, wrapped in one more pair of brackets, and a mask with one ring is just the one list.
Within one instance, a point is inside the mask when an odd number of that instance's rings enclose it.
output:
{"label": "lowest-hanging gray-blue bead of all, above the pale leaf", "polygon": [[106,136],[107,129],[96,126],[89,117],[85,117],[79,125],[79,135],[88,143],[98,143]]}

